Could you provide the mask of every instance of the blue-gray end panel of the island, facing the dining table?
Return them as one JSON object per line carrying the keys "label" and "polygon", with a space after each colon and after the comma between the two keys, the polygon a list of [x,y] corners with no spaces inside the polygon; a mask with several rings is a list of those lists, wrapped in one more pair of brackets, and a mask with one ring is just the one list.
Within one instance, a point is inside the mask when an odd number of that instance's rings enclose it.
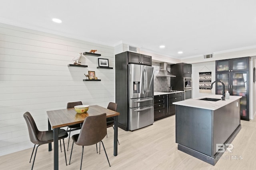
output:
{"label": "blue-gray end panel of the island, facing the dining table", "polygon": [[213,157],[213,111],[176,105],[176,143]]}

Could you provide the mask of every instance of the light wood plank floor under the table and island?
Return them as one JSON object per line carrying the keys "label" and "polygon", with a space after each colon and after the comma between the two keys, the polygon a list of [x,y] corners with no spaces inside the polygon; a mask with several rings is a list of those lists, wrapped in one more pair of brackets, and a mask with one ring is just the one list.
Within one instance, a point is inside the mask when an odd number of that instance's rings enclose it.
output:
{"label": "light wood plank floor under the table and island", "polygon": [[[103,142],[110,160],[108,166],[104,150],[96,153],[96,146],[84,147],[82,169],[90,170],[255,170],[256,169],[256,120],[241,121],[242,129],[232,141],[232,153],[225,152],[215,166],[194,158],[177,149],[175,143],[175,115],[136,130],[118,129],[118,156],[113,155],[113,129],[108,128],[108,138]],[[67,146],[67,139],[65,139]],[[72,144],[72,140],[70,140]],[[59,149],[60,150],[60,149]],[[59,153],[60,170],[80,168],[82,147],[74,145],[71,164],[65,165],[64,152]],[[32,149],[22,150],[0,157],[1,170],[27,170]],[[38,147],[34,170],[53,169],[53,152],[48,145]],[[67,159],[70,158],[70,150]],[[242,158],[242,159],[234,159]]]}

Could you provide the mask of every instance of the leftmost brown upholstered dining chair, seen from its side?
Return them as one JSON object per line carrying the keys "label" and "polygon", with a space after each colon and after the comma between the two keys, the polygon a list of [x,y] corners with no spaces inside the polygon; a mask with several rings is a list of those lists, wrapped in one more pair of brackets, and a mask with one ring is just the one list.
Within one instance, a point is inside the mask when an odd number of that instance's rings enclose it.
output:
{"label": "leftmost brown upholstered dining chair, seen from its side", "polygon": [[[53,131],[52,130],[51,131],[39,131],[32,115],[28,111],[26,113],[24,113],[23,117],[26,120],[26,123],[28,126],[28,133],[29,133],[30,141],[32,143],[34,143],[34,148],[33,148],[33,151],[32,151],[31,157],[30,157],[30,161],[29,161],[29,162],[31,162],[31,158],[34,153],[34,149],[35,149],[36,145],[38,145],[36,147],[36,151],[37,151],[37,149],[40,145],[53,142]],[[66,159],[66,165],[67,165],[64,138],[68,137],[68,133],[64,133],[64,132],[65,132],[64,129],[60,129],[59,140],[60,139],[63,140],[64,153],[65,153],[65,159]],[[35,158],[36,158],[36,152],[34,155],[34,160],[32,163],[31,170],[33,169]]]}

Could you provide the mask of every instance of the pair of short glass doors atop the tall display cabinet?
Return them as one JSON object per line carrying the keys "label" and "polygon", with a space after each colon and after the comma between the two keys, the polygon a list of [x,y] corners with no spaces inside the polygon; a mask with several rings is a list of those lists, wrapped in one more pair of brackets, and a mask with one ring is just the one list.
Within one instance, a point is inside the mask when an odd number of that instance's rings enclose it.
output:
{"label": "pair of short glass doors atop the tall display cabinet", "polygon": [[216,72],[248,71],[249,57],[216,61]]}

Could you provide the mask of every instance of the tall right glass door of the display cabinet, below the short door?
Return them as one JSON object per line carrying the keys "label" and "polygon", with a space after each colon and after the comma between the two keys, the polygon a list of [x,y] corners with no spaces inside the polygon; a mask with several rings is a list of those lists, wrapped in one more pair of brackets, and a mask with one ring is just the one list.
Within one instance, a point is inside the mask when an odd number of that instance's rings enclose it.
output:
{"label": "tall right glass door of the display cabinet, below the short door", "polygon": [[233,72],[231,91],[233,96],[242,96],[240,99],[241,119],[249,120],[249,72]]}

